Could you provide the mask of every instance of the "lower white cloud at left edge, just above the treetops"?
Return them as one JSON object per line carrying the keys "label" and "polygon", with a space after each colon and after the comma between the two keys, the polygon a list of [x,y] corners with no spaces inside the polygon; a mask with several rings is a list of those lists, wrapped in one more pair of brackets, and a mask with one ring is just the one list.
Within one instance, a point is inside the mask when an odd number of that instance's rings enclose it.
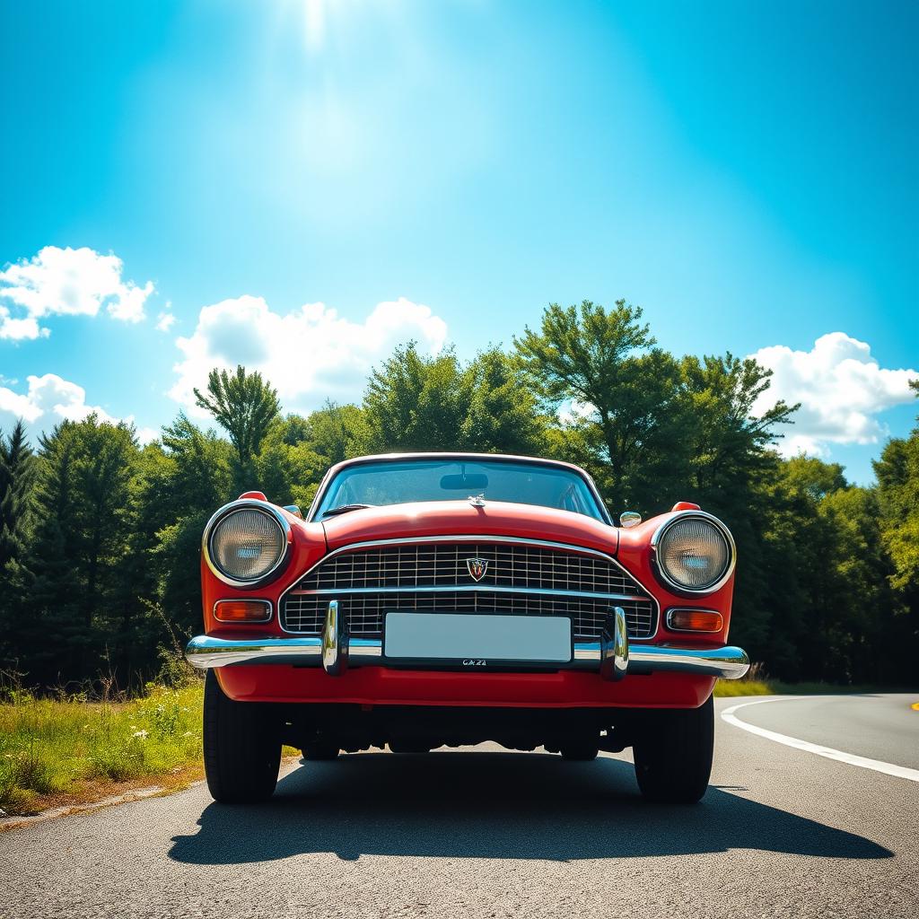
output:
{"label": "lower white cloud at left edge, just above the treetops", "polygon": [[[113,418],[100,406],[87,404],[86,391],[82,386],[63,380],[54,373],[28,377],[28,391],[25,393],[0,386],[0,430],[8,433],[21,418],[26,424],[33,447],[39,436],[50,431],[58,422],[82,421],[93,412],[98,415],[99,421],[113,425],[119,422],[118,418]],[[123,420],[131,423],[133,418],[129,415]],[[142,428],[138,437],[142,443],[146,443],[157,435],[150,428]]]}

